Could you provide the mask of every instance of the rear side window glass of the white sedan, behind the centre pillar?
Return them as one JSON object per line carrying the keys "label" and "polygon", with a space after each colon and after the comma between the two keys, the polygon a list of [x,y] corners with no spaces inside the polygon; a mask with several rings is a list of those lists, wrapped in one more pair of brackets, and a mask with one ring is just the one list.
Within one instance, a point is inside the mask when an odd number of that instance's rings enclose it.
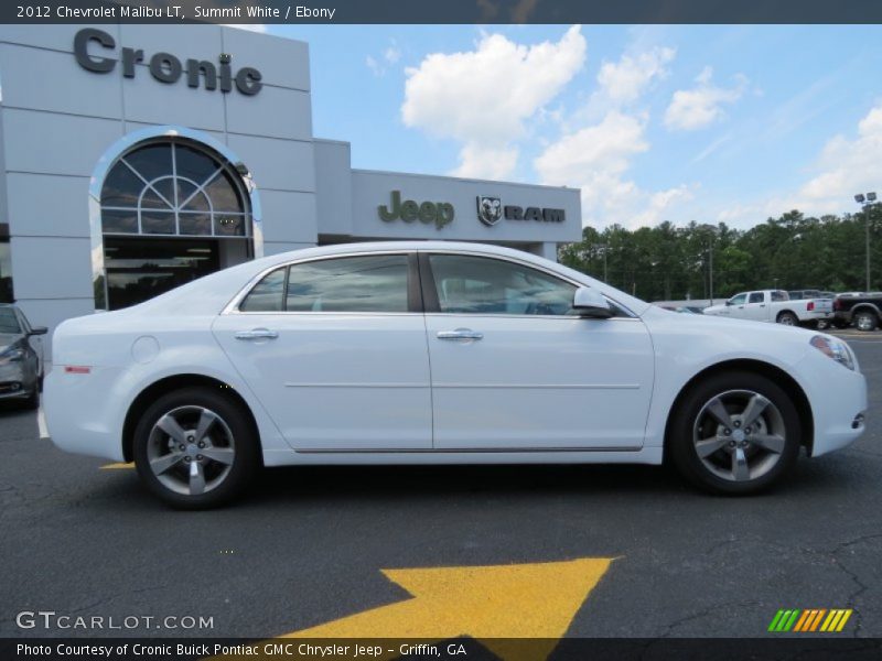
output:
{"label": "rear side window glass of the white sedan, behind the centre pillar", "polygon": [[408,312],[406,254],[344,257],[267,274],[241,312]]}

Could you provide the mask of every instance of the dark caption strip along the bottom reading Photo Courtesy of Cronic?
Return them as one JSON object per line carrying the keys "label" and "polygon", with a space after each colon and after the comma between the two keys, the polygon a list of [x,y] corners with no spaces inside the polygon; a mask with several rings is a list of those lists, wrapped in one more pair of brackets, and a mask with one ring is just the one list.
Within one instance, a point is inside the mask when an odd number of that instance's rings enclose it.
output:
{"label": "dark caption strip along the bottom reading Photo Courtesy of Cronic", "polygon": [[882,639],[804,636],[762,639],[725,638],[576,638],[473,640],[389,639],[195,639],[195,638],[82,638],[0,639],[3,661],[43,659],[49,661],[196,661],[299,660],[299,661],[878,661]]}

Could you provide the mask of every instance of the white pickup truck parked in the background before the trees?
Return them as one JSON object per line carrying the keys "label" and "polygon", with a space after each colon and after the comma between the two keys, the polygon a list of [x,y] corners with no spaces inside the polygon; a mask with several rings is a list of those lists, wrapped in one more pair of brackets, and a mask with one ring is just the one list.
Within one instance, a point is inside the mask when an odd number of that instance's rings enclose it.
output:
{"label": "white pickup truck parked in the background before the trees", "polygon": [[832,319],[831,299],[808,299],[792,301],[787,292],[761,290],[735,294],[723,305],[711,305],[704,314],[731,316],[739,319],[777,322],[787,326],[822,324]]}

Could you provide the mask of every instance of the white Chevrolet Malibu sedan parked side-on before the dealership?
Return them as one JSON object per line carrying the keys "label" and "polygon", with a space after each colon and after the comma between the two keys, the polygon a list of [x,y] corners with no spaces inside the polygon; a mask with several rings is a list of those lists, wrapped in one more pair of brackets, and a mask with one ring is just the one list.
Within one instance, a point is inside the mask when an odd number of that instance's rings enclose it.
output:
{"label": "white Chevrolet Malibu sedan parked side-on before the dealership", "polygon": [[495,246],[277,254],[61,324],[55,444],[133,460],[175,507],[292,464],[660,464],[725,494],[864,429],[851,349],[680,315]]}

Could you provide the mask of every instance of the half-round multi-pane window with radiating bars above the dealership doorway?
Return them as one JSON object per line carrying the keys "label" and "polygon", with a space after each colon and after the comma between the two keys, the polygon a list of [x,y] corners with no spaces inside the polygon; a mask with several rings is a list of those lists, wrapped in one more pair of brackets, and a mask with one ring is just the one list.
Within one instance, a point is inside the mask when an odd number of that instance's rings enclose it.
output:
{"label": "half-round multi-pane window with radiating bars above the dealership doorway", "polygon": [[100,196],[105,235],[250,237],[241,177],[185,140],[142,143],[117,160]]}

